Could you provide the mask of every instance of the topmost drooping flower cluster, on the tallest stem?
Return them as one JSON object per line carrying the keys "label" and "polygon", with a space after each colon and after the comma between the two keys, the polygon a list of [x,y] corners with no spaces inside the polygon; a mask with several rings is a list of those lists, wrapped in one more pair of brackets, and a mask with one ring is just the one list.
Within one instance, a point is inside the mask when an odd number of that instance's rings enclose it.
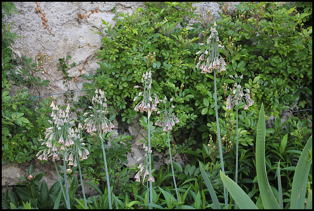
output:
{"label": "topmost drooping flower cluster, on the tallest stem", "polygon": [[226,62],[219,54],[224,48],[219,43],[218,31],[216,30],[216,22],[214,22],[214,27],[210,27],[211,34],[207,39],[207,44],[201,44],[206,47],[205,51],[199,51],[196,54],[201,54],[199,57],[199,62],[196,64],[196,68],[202,70],[201,73],[211,73],[213,69],[216,69],[217,73],[226,70]]}

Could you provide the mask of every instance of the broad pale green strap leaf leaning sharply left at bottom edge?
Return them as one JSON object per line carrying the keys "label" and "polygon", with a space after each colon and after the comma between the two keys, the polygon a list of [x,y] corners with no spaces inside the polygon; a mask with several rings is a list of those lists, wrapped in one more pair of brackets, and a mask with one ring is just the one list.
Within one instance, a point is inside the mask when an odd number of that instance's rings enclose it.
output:
{"label": "broad pale green strap leaf leaning sharply left at bottom edge", "polygon": [[222,182],[227,187],[230,192],[232,198],[234,198],[236,205],[240,209],[258,209],[254,202],[250,199],[250,197],[241,189],[239,185],[235,183],[232,179],[226,176],[220,170],[220,178]]}

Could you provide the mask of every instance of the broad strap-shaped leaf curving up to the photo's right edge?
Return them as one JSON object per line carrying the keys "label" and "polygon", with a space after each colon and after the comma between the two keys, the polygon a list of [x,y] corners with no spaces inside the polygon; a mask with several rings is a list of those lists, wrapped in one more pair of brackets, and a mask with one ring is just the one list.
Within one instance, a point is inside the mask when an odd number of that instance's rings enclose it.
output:
{"label": "broad strap-shaped leaf curving up to the photo's right edge", "polygon": [[304,209],[306,184],[312,165],[312,135],[296,164],[291,190],[291,209]]}

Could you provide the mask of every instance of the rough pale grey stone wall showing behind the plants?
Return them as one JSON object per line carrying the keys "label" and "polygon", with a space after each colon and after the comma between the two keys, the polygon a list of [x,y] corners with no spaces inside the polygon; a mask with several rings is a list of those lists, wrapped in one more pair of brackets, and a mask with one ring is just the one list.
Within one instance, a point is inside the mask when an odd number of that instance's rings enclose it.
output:
{"label": "rough pale grey stone wall showing behind the plants", "polygon": [[[96,69],[99,68],[97,50],[102,46],[102,37],[92,30],[101,31],[102,20],[108,22],[109,25],[114,25],[113,9],[116,12],[132,14],[137,7],[144,6],[143,2],[40,2],[40,4],[39,2],[14,2],[14,4],[19,14],[12,13],[10,17],[4,19],[6,24],[14,22],[11,32],[21,37],[15,40],[15,44],[11,44],[13,57],[26,56],[34,60],[38,53],[47,55],[43,62],[44,71],[47,71],[47,74],[36,72],[35,76],[51,82],[49,86],[31,86],[29,88],[31,96],[52,95],[83,89],[82,84],[87,80],[79,75],[95,74]],[[215,17],[218,17],[217,11],[220,11],[220,5],[217,2],[194,3],[194,6],[198,7],[196,13],[204,15],[206,10],[210,9],[215,13]],[[40,12],[41,14],[39,14]],[[42,14],[45,14],[44,20]],[[78,17],[78,14],[81,16]],[[83,18],[81,18],[82,16]],[[59,63],[58,59],[65,58],[67,55],[72,57],[67,62],[68,64],[73,62],[77,64],[68,70],[68,76],[77,77],[77,81],[69,80],[64,84],[65,79],[62,72],[57,70],[57,63]],[[85,69],[82,69],[83,66]],[[85,92],[74,92],[73,94],[73,101],[77,102],[78,96],[84,95]],[[57,104],[64,105],[65,96],[58,95],[57,97]],[[132,126],[129,131],[136,132]],[[141,132],[144,130],[141,129]],[[128,155],[130,166],[137,163],[137,158],[143,154],[142,143],[139,140],[140,135],[133,136],[132,152]],[[157,155],[155,152],[155,155],[160,157],[160,161],[169,163],[169,152],[167,153],[167,155]],[[179,155],[174,156],[174,159],[183,165]],[[33,160],[32,164],[37,173],[46,172],[43,179],[46,180],[49,187],[56,182],[57,176],[52,162],[41,164],[38,160]],[[2,191],[6,182],[8,185],[22,182],[18,177],[27,176],[29,165],[28,162],[12,165],[2,164]],[[159,163],[155,163],[157,168],[159,165]],[[88,189],[85,188],[85,190]],[[93,193],[91,192],[91,194]]]}

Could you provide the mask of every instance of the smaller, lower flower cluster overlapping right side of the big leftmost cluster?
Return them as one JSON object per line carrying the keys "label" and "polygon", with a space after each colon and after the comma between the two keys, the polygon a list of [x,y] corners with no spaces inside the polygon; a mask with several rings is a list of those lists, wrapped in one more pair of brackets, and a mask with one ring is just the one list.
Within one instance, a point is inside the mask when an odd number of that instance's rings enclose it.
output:
{"label": "smaller, lower flower cluster overlapping right side of the big leftmost cluster", "polygon": [[73,140],[74,144],[67,148],[65,154],[65,161],[69,161],[68,165],[77,166],[78,160],[87,159],[87,156],[89,155],[89,152],[83,143],[83,138],[81,138],[81,128],[82,125],[78,123],[78,128],[75,130],[71,128],[69,130],[69,136]]}

